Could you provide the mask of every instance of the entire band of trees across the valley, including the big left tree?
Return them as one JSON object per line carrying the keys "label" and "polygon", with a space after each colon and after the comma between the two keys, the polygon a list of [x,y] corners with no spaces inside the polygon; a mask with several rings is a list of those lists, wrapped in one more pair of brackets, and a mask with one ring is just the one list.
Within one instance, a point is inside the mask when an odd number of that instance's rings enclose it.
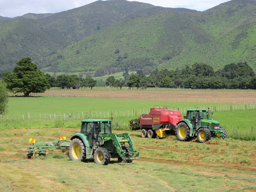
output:
{"label": "entire band of trees across the valley, including the big left tree", "polygon": [[[13,92],[42,93],[51,87],[62,89],[76,89],[83,87],[93,88],[97,85],[92,77],[78,77],[76,75],[59,75],[57,77],[44,74],[32,63],[31,58],[22,58],[16,62],[12,72],[3,76],[6,88]],[[2,84],[3,86],[3,84]],[[223,69],[214,71],[207,64],[195,63],[191,67],[175,70],[156,70],[146,76],[143,70],[129,74],[125,69],[122,78],[115,79],[109,76],[106,86],[122,89],[129,88],[192,88],[192,89],[256,89],[256,75],[252,68],[245,63],[228,64]],[[3,88],[4,90],[4,88]]]}

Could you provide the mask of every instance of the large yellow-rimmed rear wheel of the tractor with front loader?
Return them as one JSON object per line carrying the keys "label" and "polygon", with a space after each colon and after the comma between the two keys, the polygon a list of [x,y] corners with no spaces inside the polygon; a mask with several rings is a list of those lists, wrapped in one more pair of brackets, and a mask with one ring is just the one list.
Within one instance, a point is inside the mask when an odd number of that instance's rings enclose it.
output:
{"label": "large yellow-rimmed rear wheel of the tractor with front loader", "polygon": [[70,143],[69,156],[72,161],[85,161],[86,150],[84,143],[79,138],[74,138]]}

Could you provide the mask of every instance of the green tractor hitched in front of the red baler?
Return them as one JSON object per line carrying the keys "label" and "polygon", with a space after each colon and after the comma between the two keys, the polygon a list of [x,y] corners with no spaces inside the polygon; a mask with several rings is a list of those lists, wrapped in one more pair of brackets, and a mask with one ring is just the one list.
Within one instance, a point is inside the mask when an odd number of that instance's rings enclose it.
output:
{"label": "green tractor hitched in front of the red baler", "polygon": [[212,136],[227,138],[226,129],[220,127],[220,123],[212,120],[213,112],[205,109],[190,109],[184,119],[178,122],[176,134],[180,141],[190,141],[197,137],[204,143]]}

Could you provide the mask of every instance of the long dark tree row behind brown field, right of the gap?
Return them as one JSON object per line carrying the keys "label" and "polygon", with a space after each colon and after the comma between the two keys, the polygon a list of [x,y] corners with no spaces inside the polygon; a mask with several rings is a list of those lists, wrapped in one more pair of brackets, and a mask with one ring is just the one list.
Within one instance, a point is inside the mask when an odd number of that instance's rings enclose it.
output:
{"label": "long dark tree row behind brown field, right of the gap", "polygon": [[106,86],[129,88],[191,88],[191,89],[256,89],[256,76],[246,62],[231,63],[223,69],[214,69],[203,63],[195,63],[191,67],[175,70],[154,70],[148,76],[143,70],[129,75],[124,72],[123,78],[116,80],[108,77]]}

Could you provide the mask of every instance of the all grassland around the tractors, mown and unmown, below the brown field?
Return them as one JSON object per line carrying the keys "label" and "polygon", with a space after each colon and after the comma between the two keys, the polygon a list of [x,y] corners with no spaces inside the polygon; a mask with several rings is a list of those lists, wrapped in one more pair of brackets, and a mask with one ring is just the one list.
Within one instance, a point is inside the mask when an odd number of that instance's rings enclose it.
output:
{"label": "all grassland around the tractors, mown and unmown, below the brown field", "polygon": [[[228,139],[212,138],[202,144],[196,140],[180,142],[176,136],[162,140],[141,138],[139,131],[131,132],[128,120],[154,105],[179,108],[183,115],[188,108],[210,106],[214,120],[226,127]],[[8,114],[1,116],[0,191],[255,191],[256,108],[252,102],[239,103],[244,106],[240,109],[235,105],[238,103],[12,97]],[[17,148],[27,146],[29,138],[37,142],[58,140],[60,136],[69,139],[79,132],[82,118],[110,118],[111,113],[113,121],[119,123],[114,132],[131,134],[140,160],[125,164],[111,159],[108,166],[99,166],[70,161],[65,154],[30,160],[17,156]]]}

